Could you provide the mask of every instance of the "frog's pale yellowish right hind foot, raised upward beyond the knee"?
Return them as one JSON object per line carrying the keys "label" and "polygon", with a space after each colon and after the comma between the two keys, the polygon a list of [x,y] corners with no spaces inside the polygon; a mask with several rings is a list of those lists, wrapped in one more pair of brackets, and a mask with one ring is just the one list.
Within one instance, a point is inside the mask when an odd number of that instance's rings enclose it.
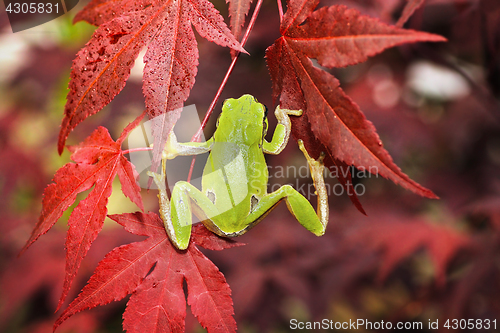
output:
{"label": "frog's pale yellowish right hind foot, raised upward beyond the knee", "polygon": [[317,214],[321,224],[323,224],[326,228],[326,225],[328,224],[329,207],[328,193],[326,191],[325,178],[323,177],[323,172],[325,170],[325,165],[323,164],[325,153],[321,152],[319,158],[315,160],[307,152],[302,140],[298,140],[298,144],[299,149],[302,153],[304,153],[304,156],[307,159],[307,164],[309,164],[309,169],[311,170],[311,176],[314,182],[314,188],[316,189],[315,194],[318,196]]}

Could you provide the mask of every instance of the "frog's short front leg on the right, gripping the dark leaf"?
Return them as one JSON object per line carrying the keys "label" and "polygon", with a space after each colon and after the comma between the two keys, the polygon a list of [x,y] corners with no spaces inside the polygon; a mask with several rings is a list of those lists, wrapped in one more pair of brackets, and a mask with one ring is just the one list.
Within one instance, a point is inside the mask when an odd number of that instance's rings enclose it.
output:
{"label": "frog's short front leg on the right, gripping the dark leaf", "polygon": [[289,115],[300,116],[302,115],[302,110],[281,109],[277,106],[276,111],[274,111],[274,115],[278,120],[278,125],[274,130],[271,142],[264,140],[263,150],[266,154],[278,155],[283,151],[283,149],[285,149],[288,139],[290,138],[292,124],[290,122]]}

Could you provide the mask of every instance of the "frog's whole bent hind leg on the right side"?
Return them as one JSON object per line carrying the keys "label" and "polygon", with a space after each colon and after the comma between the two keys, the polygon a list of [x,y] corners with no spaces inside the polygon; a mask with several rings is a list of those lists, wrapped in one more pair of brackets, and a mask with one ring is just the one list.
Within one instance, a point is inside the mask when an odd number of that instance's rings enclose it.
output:
{"label": "frog's whole bent hind leg on the right side", "polygon": [[326,225],[328,224],[328,195],[323,178],[323,158],[321,154],[318,160],[309,156],[305,150],[304,143],[299,140],[299,148],[304,153],[311,170],[314,187],[318,196],[318,206],[316,212],[311,203],[297,190],[290,185],[284,185],[277,191],[269,193],[263,197],[254,207],[250,215],[246,219],[247,229],[251,228],[262,220],[281,200],[285,199],[288,210],[307,230],[317,236],[325,233]]}

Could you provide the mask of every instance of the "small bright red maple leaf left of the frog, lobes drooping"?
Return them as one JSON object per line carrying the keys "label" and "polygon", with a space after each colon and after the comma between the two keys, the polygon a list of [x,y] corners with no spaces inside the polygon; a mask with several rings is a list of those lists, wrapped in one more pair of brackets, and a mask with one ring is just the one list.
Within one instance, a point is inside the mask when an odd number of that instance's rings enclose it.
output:
{"label": "small bright red maple leaf left of the frog, lobes drooping", "polygon": [[68,221],[66,276],[58,307],[63,304],[82,259],[102,229],[116,175],[125,196],[144,209],[141,189],[136,182],[137,172],[120,147],[142,118],[143,115],[129,124],[116,142],[111,139],[106,128],[99,127],[80,145],[70,147],[71,159],[76,163],[68,163],[60,168],[53,183],[43,193],[42,213],[23,251],[57,222],[74,203],[78,193],[94,186],[87,198],[73,210]]}

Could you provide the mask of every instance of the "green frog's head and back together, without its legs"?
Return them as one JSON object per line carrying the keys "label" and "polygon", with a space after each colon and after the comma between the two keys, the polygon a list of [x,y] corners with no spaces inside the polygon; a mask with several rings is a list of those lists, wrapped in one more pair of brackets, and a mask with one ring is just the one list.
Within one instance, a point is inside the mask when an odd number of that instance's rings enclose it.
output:
{"label": "green frog's head and back together, without its legs", "polygon": [[265,116],[265,107],[250,95],[226,100],[214,133],[203,171],[203,192],[232,224],[241,223],[252,201],[266,193]]}

